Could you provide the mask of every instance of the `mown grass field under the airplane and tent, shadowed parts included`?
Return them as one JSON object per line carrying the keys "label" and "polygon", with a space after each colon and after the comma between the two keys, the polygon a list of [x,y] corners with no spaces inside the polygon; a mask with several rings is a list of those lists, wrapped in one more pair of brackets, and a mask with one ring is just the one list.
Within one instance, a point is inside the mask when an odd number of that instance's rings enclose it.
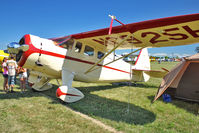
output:
{"label": "mown grass field under the airplane and tent, shadowed parts included", "polygon": [[[171,69],[175,64],[155,62],[152,68]],[[197,103],[177,99],[164,103],[159,98],[151,104],[160,82],[157,78],[137,86],[73,82],[85,98],[67,107],[121,132],[198,133]],[[21,94],[18,86],[13,94],[0,91],[0,132],[108,132],[60,104],[55,97],[57,87],[54,84],[53,89],[42,93],[28,90]]]}

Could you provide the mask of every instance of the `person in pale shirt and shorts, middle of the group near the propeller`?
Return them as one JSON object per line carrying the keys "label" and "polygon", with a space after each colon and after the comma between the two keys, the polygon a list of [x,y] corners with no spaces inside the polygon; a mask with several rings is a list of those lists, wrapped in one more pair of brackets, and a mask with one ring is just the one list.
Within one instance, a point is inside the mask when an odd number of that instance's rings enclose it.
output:
{"label": "person in pale shirt and shorts, middle of the group near the propeller", "polygon": [[14,60],[14,56],[10,57],[10,60],[7,61],[7,68],[8,68],[8,86],[9,90],[11,89],[11,92],[13,91],[14,85],[15,85],[15,74],[17,69],[17,63]]}

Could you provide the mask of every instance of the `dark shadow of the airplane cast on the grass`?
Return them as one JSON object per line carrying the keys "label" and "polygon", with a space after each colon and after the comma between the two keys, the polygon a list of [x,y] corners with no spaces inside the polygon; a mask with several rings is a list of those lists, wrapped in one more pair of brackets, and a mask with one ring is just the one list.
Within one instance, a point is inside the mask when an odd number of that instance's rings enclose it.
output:
{"label": "dark shadow of the airplane cast on the grass", "polygon": [[[57,87],[58,86],[54,86],[53,89]],[[93,91],[102,91],[107,89],[113,89],[116,87],[119,86],[107,85],[76,87],[84,93],[85,97],[76,103],[67,104],[67,106],[72,108],[73,110],[79,111],[89,116],[101,117],[116,122],[144,125],[155,121],[156,115],[153,112],[150,112],[142,107],[136,106],[134,104],[129,104],[129,111],[127,111],[127,102],[121,102],[91,94],[91,92]],[[50,97],[52,97],[53,95],[55,97],[55,94],[53,93],[52,95],[51,93],[52,91],[55,92],[55,89],[53,89],[49,90],[49,92],[47,92],[46,94]],[[59,100],[57,99],[57,101]]]}

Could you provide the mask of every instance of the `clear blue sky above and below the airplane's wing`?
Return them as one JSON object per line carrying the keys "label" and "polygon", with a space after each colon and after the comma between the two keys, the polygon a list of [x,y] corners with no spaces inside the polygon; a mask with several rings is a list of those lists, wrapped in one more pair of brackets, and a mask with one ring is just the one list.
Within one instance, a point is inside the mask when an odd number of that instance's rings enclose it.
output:
{"label": "clear blue sky above and below the airplane's wing", "polygon": [[[133,23],[199,13],[198,5],[199,0],[0,0],[0,48],[25,34],[52,38],[109,27],[109,14]],[[149,53],[192,55],[197,46],[152,48]]]}

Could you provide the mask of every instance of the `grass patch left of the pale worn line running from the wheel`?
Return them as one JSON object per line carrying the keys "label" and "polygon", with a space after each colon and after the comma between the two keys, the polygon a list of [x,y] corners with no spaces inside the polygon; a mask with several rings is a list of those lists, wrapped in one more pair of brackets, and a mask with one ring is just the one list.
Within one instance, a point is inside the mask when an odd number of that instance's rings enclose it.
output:
{"label": "grass patch left of the pale worn line running from the wheel", "polygon": [[28,90],[21,94],[17,88],[15,93],[0,91],[1,133],[108,132],[41,93]]}

